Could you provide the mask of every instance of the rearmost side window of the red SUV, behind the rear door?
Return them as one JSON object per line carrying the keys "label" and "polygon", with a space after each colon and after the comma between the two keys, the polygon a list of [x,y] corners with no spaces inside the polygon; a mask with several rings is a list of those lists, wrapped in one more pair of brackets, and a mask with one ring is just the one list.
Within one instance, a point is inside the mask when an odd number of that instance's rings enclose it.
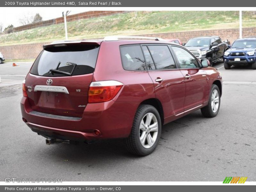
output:
{"label": "rearmost side window of the red SUV, behind the rear door", "polygon": [[147,70],[140,45],[120,46],[120,53],[125,70]]}

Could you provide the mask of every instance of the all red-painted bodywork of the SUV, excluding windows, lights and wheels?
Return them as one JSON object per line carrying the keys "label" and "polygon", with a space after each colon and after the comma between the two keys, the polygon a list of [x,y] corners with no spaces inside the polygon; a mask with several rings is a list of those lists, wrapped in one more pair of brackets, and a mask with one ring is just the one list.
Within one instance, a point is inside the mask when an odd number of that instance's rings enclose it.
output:
{"label": "all red-painted bodywork of the SUV, excluding windows, lights and wheels", "polygon": [[[22,117],[39,134],[70,140],[94,140],[128,137],[133,118],[140,103],[148,99],[160,101],[163,124],[197,110],[208,103],[212,83],[222,82],[216,69],[170,69],[154,71],[124,70],[120,45],[171,44],[167,41],[122,40],[102,41],[93,73],[78,76],[51,77],[53,86],[65,86],[69,94],[34,92],[36,85],[46,85],[49,77],[28,74],[26,87],[31,86],[28,98],[21,100]],[[177,45],[177,44],[176,44]],[[184,76],[189,74],[190,79]],[[162,78],[162,82],[156,82]],[[88,103],[91,82],[115,80],[123,83],[117,95],[107,102]],[[76,89],[81,89],[77,92]],[[78,107],[86,105],[86,107]],[[200,105],[199,107],[197,107]],[[39,113],[31,114],[36,111]],[[40,113],[54,115],[40,115]],[[58,118],[60,116],[61,118]],[[65,119],[65,117],[67,117]],[[69,117],[78,117],[76,120]],[[100,136],[93,134],[99,130]]]}

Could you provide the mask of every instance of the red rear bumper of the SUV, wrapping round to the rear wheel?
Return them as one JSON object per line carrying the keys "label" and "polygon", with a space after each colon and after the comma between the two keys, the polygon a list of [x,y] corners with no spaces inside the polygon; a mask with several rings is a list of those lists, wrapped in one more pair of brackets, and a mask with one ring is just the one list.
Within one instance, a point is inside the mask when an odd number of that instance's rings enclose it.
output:
{"label": "red rear bumper of the SUV, wrapping round to the rear wheel", "polygon": [[[40,135],[52,138],[90,141],[128,137],[139,103],[88,103],[81,118],[56,115],[43,116],[33,111],[28,99],[21,99],[21,114],[28,127]],[[100,135],[94,135],[99,130]]]}

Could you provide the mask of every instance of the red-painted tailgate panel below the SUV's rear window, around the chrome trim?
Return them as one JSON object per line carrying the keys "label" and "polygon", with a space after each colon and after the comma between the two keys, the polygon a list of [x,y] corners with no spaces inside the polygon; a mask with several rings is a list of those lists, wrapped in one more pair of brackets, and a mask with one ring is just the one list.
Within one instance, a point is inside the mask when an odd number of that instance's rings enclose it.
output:
{"label": "red-painted tailgate panel below the SUV's rear window, around the chrome trim", "polygon": [[[26,86],[31,86],[34,90],[36,85],[46,85],[46,80],[49,78],[29,73],[26,77]],[[92,82],[92,74],[51,77],[51,79],[53,81],[52,86],[65,86],[69,94],[41,91],[27,92],[32,110],[53,115],[81,117],[84,107],[78,106],[87,104],[87,93]],[[81,92],[76,92],[76,89],[80,89]]]}

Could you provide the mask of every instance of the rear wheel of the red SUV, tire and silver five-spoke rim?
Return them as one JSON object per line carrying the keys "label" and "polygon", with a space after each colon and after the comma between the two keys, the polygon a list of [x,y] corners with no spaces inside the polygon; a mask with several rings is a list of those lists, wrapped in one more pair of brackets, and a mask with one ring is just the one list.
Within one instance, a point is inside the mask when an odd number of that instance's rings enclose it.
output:
{"label": "rear wheel of the red SUV, tire and silver five-spoke rim", "polygon": [[[149,121],[150,118],[152,120],[148,123],[147,120]],[[143,126],[143,124],[146,126]],[[155,126],[152,126],[153,124]],[[151,131],[150,126],[147,125],[151,125]],[[154,131],[152,131],[153,129]],[[156,108],[151,105],[140,105],[133,120],[131,134],[126,139],[127,150],[139,156],[149,155],[157,146],[161,130],[161,118]],[[149,142],[150,140],[151,142]]]}

